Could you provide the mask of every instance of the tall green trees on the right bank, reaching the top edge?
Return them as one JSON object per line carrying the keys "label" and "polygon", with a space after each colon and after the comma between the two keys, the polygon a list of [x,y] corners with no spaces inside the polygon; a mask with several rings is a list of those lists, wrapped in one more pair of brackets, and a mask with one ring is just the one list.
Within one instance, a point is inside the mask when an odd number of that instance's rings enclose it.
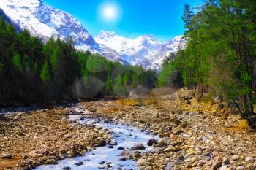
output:
{"label": "tall green trees on the right bank, reaching the top edge", "polygon": [[185,5],[187,47],[165,60],[159,85],[195,88],[222,98],[255,127],[256,1],[207,1],[195,14]]}

